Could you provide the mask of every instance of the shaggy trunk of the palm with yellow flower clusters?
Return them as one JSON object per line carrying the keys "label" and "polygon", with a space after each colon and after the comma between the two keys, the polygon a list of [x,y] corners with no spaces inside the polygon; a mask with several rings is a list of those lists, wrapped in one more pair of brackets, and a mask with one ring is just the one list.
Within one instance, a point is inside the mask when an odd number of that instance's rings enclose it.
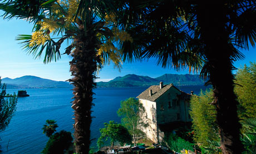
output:
{"label": "shaggy trunk of the palm with yellow flower clusters", "polygon": [[[82,27],[82,26],[81,26]],[[75,110],[75,143],[76,153],[88,153],[90,150],[90,126],[93,88],[95,88],[95,72],[97,69],[95,43],[93,31],[86,34],[80,29],[80,35],[75,38],[75,51],[70,62],[72,76],[73,100]]]}

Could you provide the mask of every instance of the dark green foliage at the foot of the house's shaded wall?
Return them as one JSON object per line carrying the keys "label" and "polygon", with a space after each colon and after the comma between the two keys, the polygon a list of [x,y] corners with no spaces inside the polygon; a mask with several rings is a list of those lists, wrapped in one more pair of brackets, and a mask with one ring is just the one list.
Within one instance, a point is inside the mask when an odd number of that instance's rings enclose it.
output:
{"label": "dark green foliage at the foot of the house's shaded wall", "polygon": [[193,143],[190,143],[184,140],[183,138],[178,137],[177,135],[174,135],[172,133],[170,133],[169,135],[166,135],[164,138],[164,141],[166,142],[170,150],[173,150],[176,152],[180,152],[183,149],[194,151]]}

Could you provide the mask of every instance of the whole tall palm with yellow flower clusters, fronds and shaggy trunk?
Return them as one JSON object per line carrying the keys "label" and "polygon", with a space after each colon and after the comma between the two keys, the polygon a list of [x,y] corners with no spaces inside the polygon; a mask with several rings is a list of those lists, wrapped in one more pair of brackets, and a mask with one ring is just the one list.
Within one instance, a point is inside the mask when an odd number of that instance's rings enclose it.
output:
{"label": "whole tall palm with yellow flower clusters, fronds and shaggy trunk", "polygon": [[[76,153],[88,153],[96,71],[110,60],[119,67],[121,59],[114,42],[132,40],[115,26],[114,14],[106,9],[112,6],[109,1],[81,1],[83,8],[77,11],[81,4],[79,2],[69,0],[53,1],[50,5],[41,4],[38,14],[32,17],[35,22],[33,34],[20,35],[17,39],[23,41],[24,49],[36,58],[41,57],[45,51],[45,63],[60,58],[61,44],[68,40],[65,53],[73,58],[70,62],[73,78],[69,81],[75,86],[72,108],[75,110],[73,127]],[[31,19],[29,12],[23,9],[16,11],[17,16],[8,16],[16,13],[13,11],[16,4],[5,3],[1,6],[7,12],[6,17]]]}

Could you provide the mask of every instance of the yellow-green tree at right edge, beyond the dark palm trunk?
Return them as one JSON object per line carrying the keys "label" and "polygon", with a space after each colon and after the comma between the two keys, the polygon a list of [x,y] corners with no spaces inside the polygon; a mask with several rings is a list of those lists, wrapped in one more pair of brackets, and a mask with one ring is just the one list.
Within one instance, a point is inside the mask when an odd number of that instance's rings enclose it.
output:
{"label": "yellow-green tree at right edge, beyond the dark palm trunk", "polygon": [[244,65],[235,76],[234,91],[238,96],[241,118],[256,118],[256,63]]}

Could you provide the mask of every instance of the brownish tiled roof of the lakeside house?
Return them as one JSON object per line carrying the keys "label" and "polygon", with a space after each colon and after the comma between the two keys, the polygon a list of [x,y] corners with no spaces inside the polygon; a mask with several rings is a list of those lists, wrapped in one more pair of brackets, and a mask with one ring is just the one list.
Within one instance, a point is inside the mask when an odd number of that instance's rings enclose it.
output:
{"label": "brownish tiled roof of the lakeside house", "polygon": [[[149,101],[154,102],[157,98],[159,98],[161,95],[163,95],[171,87],[176,88],[172,83],[170,85],[164,85],[163,88],[161,88],[161,89],[160,89],[159,85],[150,86],[149,88],[147,88],[144,92],[142,92],[136,98],[139,98],[139,99],[142,99],[142,100],[149,100]],[[180,91],[178,88],[176,88],[176,89],[178,91]],[[152,95],[151,96],[149,96],[149,90],[152,90]]]}

